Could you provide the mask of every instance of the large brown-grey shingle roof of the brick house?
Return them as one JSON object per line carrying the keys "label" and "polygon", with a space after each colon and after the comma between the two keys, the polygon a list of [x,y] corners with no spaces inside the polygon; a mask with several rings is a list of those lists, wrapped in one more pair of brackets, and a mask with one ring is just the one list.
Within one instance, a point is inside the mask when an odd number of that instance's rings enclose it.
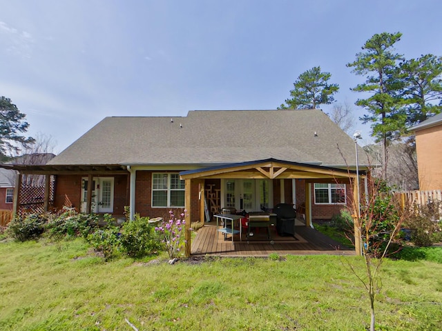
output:
{"label": "large brown-grey shingle roof of the brick house", "polygon": [[[359,162],[367,164],[360,153]],[[106,117],[48,164],[209,165],[271,158],[354,165],[354,141],[321,110],[194,110],[173,121]]]}

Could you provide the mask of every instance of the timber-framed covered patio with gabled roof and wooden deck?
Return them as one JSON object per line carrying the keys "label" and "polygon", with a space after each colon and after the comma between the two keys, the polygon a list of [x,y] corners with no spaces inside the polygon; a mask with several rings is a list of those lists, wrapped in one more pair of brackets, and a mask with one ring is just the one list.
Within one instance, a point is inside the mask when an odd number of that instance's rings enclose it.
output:
{"label": "timber-framed covered patio with gabled roof and wooden deck", "polygon": [[[218,255],[218,256],[268,256],[277,254],[360,254],[358,248],[358,235],[356,235],[356,250],[344,248],[336,241],[329,239],[312,228],[311,217],[311,183],[347,182],[350,184],[347,195],[351,199],[358,197],[356,185],[356,172],[340,168],[328,168],[320,165],[295,163],[267,159],[245,163],[233,163],[218,167],[203,168],[180,172],[180,177],[185,180],[186,193],[186,255]],[[365,177],[365,172],[363,172]],[[204,181],[207,179],[304,179],[305,180],[305,220],[304,223],[296,223],[296,238],[293,240],[240,240],[239,234],[235,234],[233,241],[225,240],[222,233],[217,229],[216,222],[202,222],[203,226],[198,230],[194,241],[191,242],[191,215],[195,201],[191,199],[191,185],[198,183],[200,188],[200,220],[204,220]],[[284,201],[281,201],[284,202]],[[196,208],[195,208],[196,209]],[[355,211],[354,215],[357,214]]]}

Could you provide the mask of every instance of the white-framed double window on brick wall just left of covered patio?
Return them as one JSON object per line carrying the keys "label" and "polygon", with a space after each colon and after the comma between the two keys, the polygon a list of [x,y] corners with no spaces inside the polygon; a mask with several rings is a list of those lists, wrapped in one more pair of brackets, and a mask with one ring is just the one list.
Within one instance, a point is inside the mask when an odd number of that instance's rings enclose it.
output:
{"label": "white-framed double window on brick wall just left of covered patio", "polygon": [[152,207],[184,208],[184,187],[180,174],[152,174]]}

